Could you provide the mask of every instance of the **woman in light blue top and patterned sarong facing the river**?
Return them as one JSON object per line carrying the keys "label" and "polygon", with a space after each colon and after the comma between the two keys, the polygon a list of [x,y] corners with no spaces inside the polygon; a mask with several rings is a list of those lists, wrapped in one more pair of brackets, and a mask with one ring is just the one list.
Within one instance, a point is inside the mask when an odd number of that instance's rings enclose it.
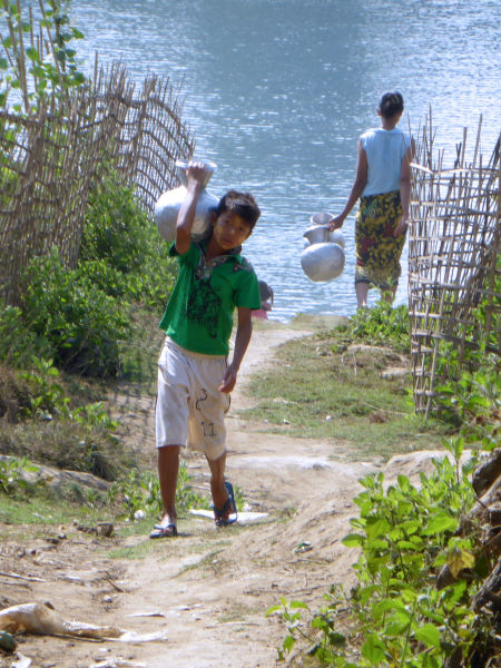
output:
{"label": "woman in light blue top and patterned sarong facing the river", "polygon": [[331,229],[342,227],[360,197],[355,220],[355,292],[358,308],[367,306],[371,286],[392,303],[401,274],[400,256],[407,230],[413,144],[396,127],[403,112],[400,92],[385,92],[377,114],[381,128],[365,131],[358,141],[355,181],[343,212]]}

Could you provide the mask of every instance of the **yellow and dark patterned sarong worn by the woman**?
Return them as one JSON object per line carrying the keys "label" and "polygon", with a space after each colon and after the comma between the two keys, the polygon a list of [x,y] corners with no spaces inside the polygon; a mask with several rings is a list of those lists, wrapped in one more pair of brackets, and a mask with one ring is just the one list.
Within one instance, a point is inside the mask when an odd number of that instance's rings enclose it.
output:
{"label": "yellow and dark patterned sarong worn by the woman", "polygon": [[401,274],[400,256],[405,235],[393,236],[402,217],[400,190],[360,198],[355,220],[356,283],[391,289]]}

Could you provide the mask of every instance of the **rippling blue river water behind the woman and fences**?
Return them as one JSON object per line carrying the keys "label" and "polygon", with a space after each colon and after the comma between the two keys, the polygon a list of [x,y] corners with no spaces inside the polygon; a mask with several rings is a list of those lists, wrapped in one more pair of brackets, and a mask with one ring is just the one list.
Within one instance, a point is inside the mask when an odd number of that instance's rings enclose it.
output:
{"label": "rippling blue river water behind the woman and fences", "polygon": [[[414,134],[431,106],[445,165],[463,127],[473,147],[481,114],[485,158],[500,131],[499,0],[73,0],[71,13],[85,68],[97,50],[135,80],[183,84],[195,156],[218,166],[208,189],[250,190],[262,208],[245,255],[279,321],[355,312],[355,209],[345,269],[330,283],[303,273],[302,235],[312,214],[340,212],[384,90],[402,92]],[[406,287],[405,248],[396,304]]]}

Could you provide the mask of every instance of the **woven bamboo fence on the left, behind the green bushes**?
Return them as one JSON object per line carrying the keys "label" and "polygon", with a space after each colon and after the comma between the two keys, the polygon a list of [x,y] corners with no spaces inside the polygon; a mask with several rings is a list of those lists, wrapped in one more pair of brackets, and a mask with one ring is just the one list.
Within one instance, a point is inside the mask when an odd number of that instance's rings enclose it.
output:
{"label": "woven bamboo fence on the left, behind the green bushes", "polygon": [[[153,212],[177,184],[175,161],[193,154],[179,90],[149,77],[136,94],[120,63],[97,69],[92,85],[65,102],[19,117],[0,110],[0,297],[16,305],[22,274],[52,247],[69,267],[79,255],[85,209],[102,166],[112,164]],[[111,160],[111,163],[110,163]]]}

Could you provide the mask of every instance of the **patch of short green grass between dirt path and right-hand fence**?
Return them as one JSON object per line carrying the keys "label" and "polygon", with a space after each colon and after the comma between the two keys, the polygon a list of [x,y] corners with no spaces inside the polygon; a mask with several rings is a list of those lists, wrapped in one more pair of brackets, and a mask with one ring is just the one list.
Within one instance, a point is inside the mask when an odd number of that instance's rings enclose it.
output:
{"label": "patch of short green grass between dirt path and right-hand fence", "polygon": [[257,400],[240,411],[263,431],[332,440],[346,458],[382,458],[436,448],[445,428],[414,414],[409,355],[326,330],[284,344],[271,370],[255,374]]}

